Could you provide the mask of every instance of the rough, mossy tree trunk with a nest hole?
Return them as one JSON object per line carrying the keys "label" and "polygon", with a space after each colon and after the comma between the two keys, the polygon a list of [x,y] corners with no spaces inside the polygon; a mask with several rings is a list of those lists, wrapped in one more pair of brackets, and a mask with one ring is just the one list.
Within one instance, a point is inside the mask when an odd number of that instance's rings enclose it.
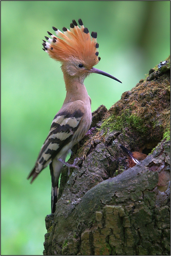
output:
{"label": "rough, mossy tree trunk with a nest hole", "polygon": [[[169,84],[168,58],[93,112],[98,129],[73,149],[80,171],[63,168],[43,255],[170,255]],[[149,155],[129,168],[119,144]]]}

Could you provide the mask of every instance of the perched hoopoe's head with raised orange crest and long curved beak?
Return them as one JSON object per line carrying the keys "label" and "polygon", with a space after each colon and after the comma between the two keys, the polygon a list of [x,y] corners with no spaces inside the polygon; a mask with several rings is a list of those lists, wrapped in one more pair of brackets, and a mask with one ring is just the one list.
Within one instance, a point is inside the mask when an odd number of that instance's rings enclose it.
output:
{"label": "perched hoopoe's head with raised orange crest and long curved beak", "polygon": [[90,36],[89,30],[84,27],[81,19],[78,23],[80,27],[73,20],[70,30],[63,27],[63,32],[52,27],[56,35],[48,32],[52,39],[45,36],[48,42],[43,40],[43,50],[51,58],[62,63],[62,71],[65,75],[75,76],[84,81],[88,74],[98,73],[119,81],[112,75],[93,68],[100,61],[97,32],[91,32]]}

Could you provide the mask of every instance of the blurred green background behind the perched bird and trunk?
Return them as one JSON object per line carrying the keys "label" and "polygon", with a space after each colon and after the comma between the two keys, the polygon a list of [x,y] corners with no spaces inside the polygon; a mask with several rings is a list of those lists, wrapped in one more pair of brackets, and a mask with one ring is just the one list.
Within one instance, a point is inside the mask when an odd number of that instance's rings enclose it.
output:
{"label": "blurred green background behind the perched bird and trunk", "polygon": [[65,99],[60,63],[42,39],[52,26],[82,19],[97,31],[96,66],[122,84],[93,74],[85,80],[92,111],[108,109],[170,53],[170,1],[1,1],[1,255],[42,255],[50,213],[46,168],[26,179]]}

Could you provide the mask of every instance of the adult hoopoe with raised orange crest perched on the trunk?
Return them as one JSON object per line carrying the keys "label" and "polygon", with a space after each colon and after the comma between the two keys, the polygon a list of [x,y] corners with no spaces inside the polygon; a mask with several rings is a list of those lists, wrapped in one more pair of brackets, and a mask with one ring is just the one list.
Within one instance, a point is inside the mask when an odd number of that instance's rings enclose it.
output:
{"label": "adult hoopoe with raised orange crest perched on the trunk", "polygon": [[38,174],[50,165],[52,191],[51,212],[55,212],[58,197],[59,177],[63,164],[69,168],[78,169],[76,164],[68,164],[65,158],[71,153],[72,147],[86,135],[91,125],[91,98],[84,86],[84,79],[90,73],[97,73],[110,77],[120,83],[117,78],[101,70],[93,68],[100,61],[98,57],[97,32],[92,32],[84,27],[82,20],[78,24],[75,20],[70,24],[70,30],[66,27],[61,32],[55,27],[55,34],[47,32],[51,38],[45,36],[43,50],[51,58],[61,62],[63,78],[66,87],[66,97],[62,108],[54,117],[49,134],[40,149],[38,159],[33,170],[28,175],[31,183]]}

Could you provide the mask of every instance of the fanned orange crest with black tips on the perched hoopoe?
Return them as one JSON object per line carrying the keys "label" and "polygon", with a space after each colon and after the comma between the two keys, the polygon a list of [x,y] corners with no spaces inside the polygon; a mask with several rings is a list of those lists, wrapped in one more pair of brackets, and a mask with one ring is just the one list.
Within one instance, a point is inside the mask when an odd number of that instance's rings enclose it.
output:
{"label": "fanned orange crest with black tips on the perched hoopoe", "polygon": [[70,24],[70,30],[63,27],[63,32],[52,27],[56,35],[48,32],[52,39],[45,36],[49,42],[43,40],[43,50],[51,58],[62,63],[71,60],[71,58],[76,58],[93,67],[100,61],[97,51],[99,46],[97,43],[97,32],[91,32],[90,36],[88,29],[84,27],[81,19],[78,20],[78,23],[80,27],[73,20]]}

